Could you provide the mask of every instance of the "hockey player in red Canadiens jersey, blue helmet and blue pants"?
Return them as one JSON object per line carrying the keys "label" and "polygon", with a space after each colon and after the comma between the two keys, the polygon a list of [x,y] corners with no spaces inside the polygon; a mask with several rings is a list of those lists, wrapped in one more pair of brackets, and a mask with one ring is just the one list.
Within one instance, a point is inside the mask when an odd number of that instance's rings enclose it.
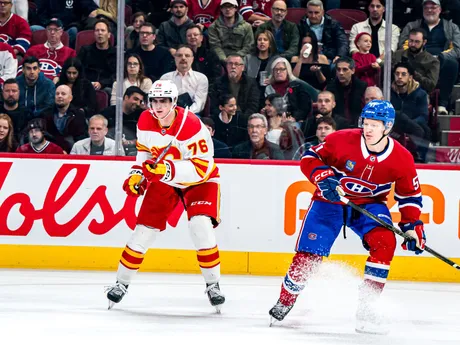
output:
{"label": "hockey player in red Canadiens jersey, blue helmet and blue pants", "polygon": [[356,331],[385,333],[374,308],[382,292],[396,249],[392,231],[340,203],[337,187],[346,197],[382,220],[392,223],[386,206],[391,185],[399,203],[399,227],[413,239],[403,249],[423,252],[425,232],[419,220],[422,208],[420,183],[412,155],[388,137],[394,124],[395,111],[388,101],[371,101],[363,109],[360,129],[341,130],[330,134],[325,142],[312,147],[301,160],[301,170],[316,185],[305,215],[296,254],[281,286],[278,302],[270,309],[272,318],[281,321],[289,313],[310,276],[329,256],[342,226],[360,236],[369,251],[364,268],[364,281],[359,289]]}

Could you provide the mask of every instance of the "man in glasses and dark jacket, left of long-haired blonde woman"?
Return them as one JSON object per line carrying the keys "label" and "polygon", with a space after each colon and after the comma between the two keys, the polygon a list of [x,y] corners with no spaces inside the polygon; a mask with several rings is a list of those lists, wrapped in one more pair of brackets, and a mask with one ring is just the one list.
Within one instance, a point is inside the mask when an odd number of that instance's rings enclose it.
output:
{"label": "man in glasses and dark jacket, left of long-haired blonde woman", "polygon": [[229,55],[226,61],[227,73],[218,78],[209,92],[211,113],[219,113],[219,97],[233,95],[238,110],[247,119],[259,109],[259,87],[254,78],[244,73],[243,59],[239,55]]}

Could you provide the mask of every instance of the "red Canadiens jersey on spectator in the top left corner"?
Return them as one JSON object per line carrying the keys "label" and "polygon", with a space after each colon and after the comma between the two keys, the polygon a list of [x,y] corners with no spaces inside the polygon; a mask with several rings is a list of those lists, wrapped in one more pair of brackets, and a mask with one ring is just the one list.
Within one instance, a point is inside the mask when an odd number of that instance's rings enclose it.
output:
{"label": "red Canadiens jersey on spectator in the top left corner", "polygon": [[10,18],[0,24],[0,42],[8,43],[13,49],[25,54],[32,40],[32,31],[24,18],[12,13]]}

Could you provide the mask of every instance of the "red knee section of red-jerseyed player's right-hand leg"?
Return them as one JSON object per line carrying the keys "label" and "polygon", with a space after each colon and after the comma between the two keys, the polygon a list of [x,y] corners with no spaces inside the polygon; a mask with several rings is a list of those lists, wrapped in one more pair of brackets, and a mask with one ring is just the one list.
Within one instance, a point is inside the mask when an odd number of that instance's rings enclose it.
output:
{"label": "red knee section of red-jerseyed player's right-hand leg", "polygon": [[396,249],[395,234],[386,228],[376,227],[364,235],[370,256],[378,262],[390,262]]}

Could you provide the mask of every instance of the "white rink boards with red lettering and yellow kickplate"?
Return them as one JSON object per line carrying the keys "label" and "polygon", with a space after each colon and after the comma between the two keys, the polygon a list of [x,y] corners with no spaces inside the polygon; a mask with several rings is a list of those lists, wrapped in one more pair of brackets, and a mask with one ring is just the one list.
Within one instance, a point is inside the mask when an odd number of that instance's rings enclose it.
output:
{"label": "white rink boards with red lettering and yellow kickplate", "polygon": [[[18,158],[19,157],[19,158]],[[0,267],[114,270],[134,229],[140,199],[121,185],[127,158],[0,157]],[[222,272],[282,275],[314,187],[296,162],[220,161]],[[419,166],[427,244],[460,262],[460,166]],[[393,221],[399,220],[390,196]],[[401,241],[398,239],[398,243]],[[357,236],[337,239],[330,259],[362,270]],[[198,272],[186,214],[178,207],[142,270]],[[390,279],[460,282],[460,271],[398,245]]]}

